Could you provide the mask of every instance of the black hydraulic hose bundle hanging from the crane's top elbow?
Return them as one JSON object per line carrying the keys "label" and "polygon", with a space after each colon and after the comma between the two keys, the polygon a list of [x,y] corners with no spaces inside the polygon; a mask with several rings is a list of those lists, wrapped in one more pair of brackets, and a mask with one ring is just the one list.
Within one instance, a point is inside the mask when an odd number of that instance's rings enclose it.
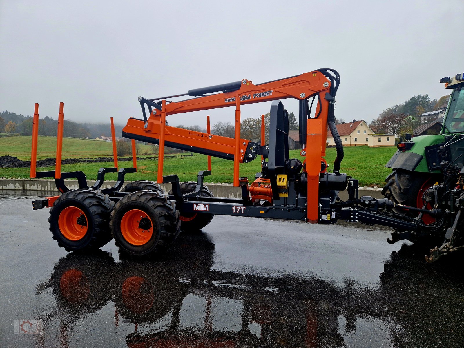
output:
{"label": "black hydraulic hose bundle hanging from the crane's top elbow", "polygon": [[[343,144],[342,144],[342,139],[340,138],[340,135],[338,134],[337,127],[335,126],[335,95],[338,90],[338,86],[340,85],[340,74],[333,69],[318,69],[318,71],[321,71],[326,77],[329,78],[331,82],[330,86],[330,97],[331,100],[329,100],[329,110],[328,110],[328,125],[330,129],[330,133],[332,134],[332,137],[334,138],[335,142],[335,148],[337,150],[337,156],[334,161],[334,173],[338,174],[340,173],[340,164],[342,163],[343,160]],[[332,75],[333,72],[335,76]],[[327,99],[327,96],[326,96]]]}

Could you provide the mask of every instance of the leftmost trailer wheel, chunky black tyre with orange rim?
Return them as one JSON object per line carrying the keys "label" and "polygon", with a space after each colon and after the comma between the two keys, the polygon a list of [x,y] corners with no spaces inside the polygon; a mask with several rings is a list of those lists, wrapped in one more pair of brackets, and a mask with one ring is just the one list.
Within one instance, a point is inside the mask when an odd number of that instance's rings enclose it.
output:
{"label": "leftmost trailer wheel, chunky black tyre with orange rim", "polygon": [[91,251],[111,240],[108,195],[84,189],[63,193],[50,208],[50,231],[66,251]]}

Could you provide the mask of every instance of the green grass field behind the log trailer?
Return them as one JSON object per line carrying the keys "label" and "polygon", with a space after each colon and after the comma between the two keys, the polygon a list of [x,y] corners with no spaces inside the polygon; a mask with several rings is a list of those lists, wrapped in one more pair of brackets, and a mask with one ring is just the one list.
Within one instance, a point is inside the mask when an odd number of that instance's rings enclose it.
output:
{"label": "green grass field behind the log trailer", "polygon": [[[11,155],[22,160],[30,159],[31,137],[17,136],[12,142],[5,142],[5,138],[0,138],[0,156]],[[22,138],[16,139],[16,138]],[[8,139],[8,138],[6,138]],[[46,141],[46,142],[45,142]],[[48,143],[48,148],[46,147]],[[39,139],[39,158],[54,157],[56,138],[40,137]],[[148,145],[145,145],[150,148]],[[347,173],[359,179],[360,186],[383,186],[385,178],[391,172],[390,168],[385,168],[385,164],[396,151],[395,147],[369,148],[367,146],[346,147],[345,158],[342,161],[341,172]],[[143,151],[142,151],[143,153]],[[99,142],[90,140],[79,140],[64,138],[63,158],[76,157],[100,157],[111,154],[110,142]],[[183,156],[184,155],[184,156]],[[185,156],[180,154],[175,158],[165,158],[164,174],[178,174],[181,181],[196,180],[199,170],[206,169],[206,156],[193,154]],[[332,168],[335,159],[335,148],[327,149],[327,162],[329,169]],[[291,150],[290,158],[298,158],[299,150]],[[131,166],[132,162],[120,162],[120,166]],[[156,180],[156,170],[158,162],[155,160],[139,160],[137,162],[138,172],[126,175],[127,180]],[[82,170],[89,180],[97,179],[97,171],[100,167],[112,167],[112,162],[82,163],[63,165],[63,171]],[[53,170],[53,167],[37,168],[38,171]],[[260,160],[257,158],[251,163],[240,165],[240,176],[247,176],[249,180],[254,180],[255,174],[261,171]],[[212,158],[213,174],[206,178],[207,182],[232,182],[233,161]],[[0,168],[0,177],[7,178],[28,178],[29,168]],[[116,180],[116,174],[107,174],[108,180]]]}

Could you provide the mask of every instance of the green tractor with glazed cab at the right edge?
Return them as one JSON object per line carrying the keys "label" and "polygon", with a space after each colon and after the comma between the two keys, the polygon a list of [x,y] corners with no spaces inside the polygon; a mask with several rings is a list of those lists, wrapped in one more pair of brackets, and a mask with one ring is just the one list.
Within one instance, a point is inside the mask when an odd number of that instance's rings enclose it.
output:
{"label": "green tractor with glazed cab at the right edge", "polygon": [[[440,166],[438,149],[446,147],[449,160],[454,165],[463,166],[464,161],[464,74],[454,78],[444,77],[440,83],[451,89],[451,98],[446,108],[440,134],[422,135],[398,144],[398,151],[385,167],[393,168],[385,180],[387,185],[382,194],[396,203],[419,208],[428,206],[424,200],[425,191],[436,182],[445,180]],[[458,183],[457,183],[458,184]],[[393,208],[395,213],[405,214],[404,210]],[[409,214],[409,213],[408,213]],[[410,213],[414,216],[414,213]],[[435,221],[430,216],[422,217],[426,224]]]}

